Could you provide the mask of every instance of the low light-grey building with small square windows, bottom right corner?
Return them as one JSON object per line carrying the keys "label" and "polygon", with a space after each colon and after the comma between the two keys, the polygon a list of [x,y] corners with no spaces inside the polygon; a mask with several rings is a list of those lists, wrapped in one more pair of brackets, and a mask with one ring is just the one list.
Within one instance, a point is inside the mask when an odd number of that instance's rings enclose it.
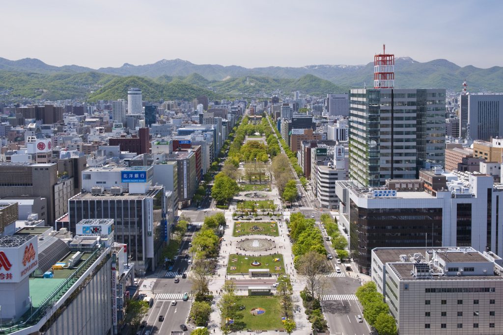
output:
{"label": "low light-grey building with small square windows, bottom right corner", "polygon": [[471,247],[375,248],[372,281],[401,335],[501,334],[502,261]]}

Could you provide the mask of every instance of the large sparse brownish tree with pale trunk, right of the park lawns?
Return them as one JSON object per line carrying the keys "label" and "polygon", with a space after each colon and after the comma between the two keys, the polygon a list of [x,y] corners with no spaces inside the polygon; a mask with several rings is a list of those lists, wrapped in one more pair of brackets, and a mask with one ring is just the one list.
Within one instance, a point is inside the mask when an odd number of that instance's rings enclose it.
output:
{"label": "large sparse brownish tree with pale trunk, right of the park lawns", "polygon": [[325,257],[315,251],[309,251],[297,259],[295,266],[299,274],[306,278],[307,288],[310,290],[311,296],[314,298],[315,293],[317,293],[319,298],[321,279],[327,270]]}

